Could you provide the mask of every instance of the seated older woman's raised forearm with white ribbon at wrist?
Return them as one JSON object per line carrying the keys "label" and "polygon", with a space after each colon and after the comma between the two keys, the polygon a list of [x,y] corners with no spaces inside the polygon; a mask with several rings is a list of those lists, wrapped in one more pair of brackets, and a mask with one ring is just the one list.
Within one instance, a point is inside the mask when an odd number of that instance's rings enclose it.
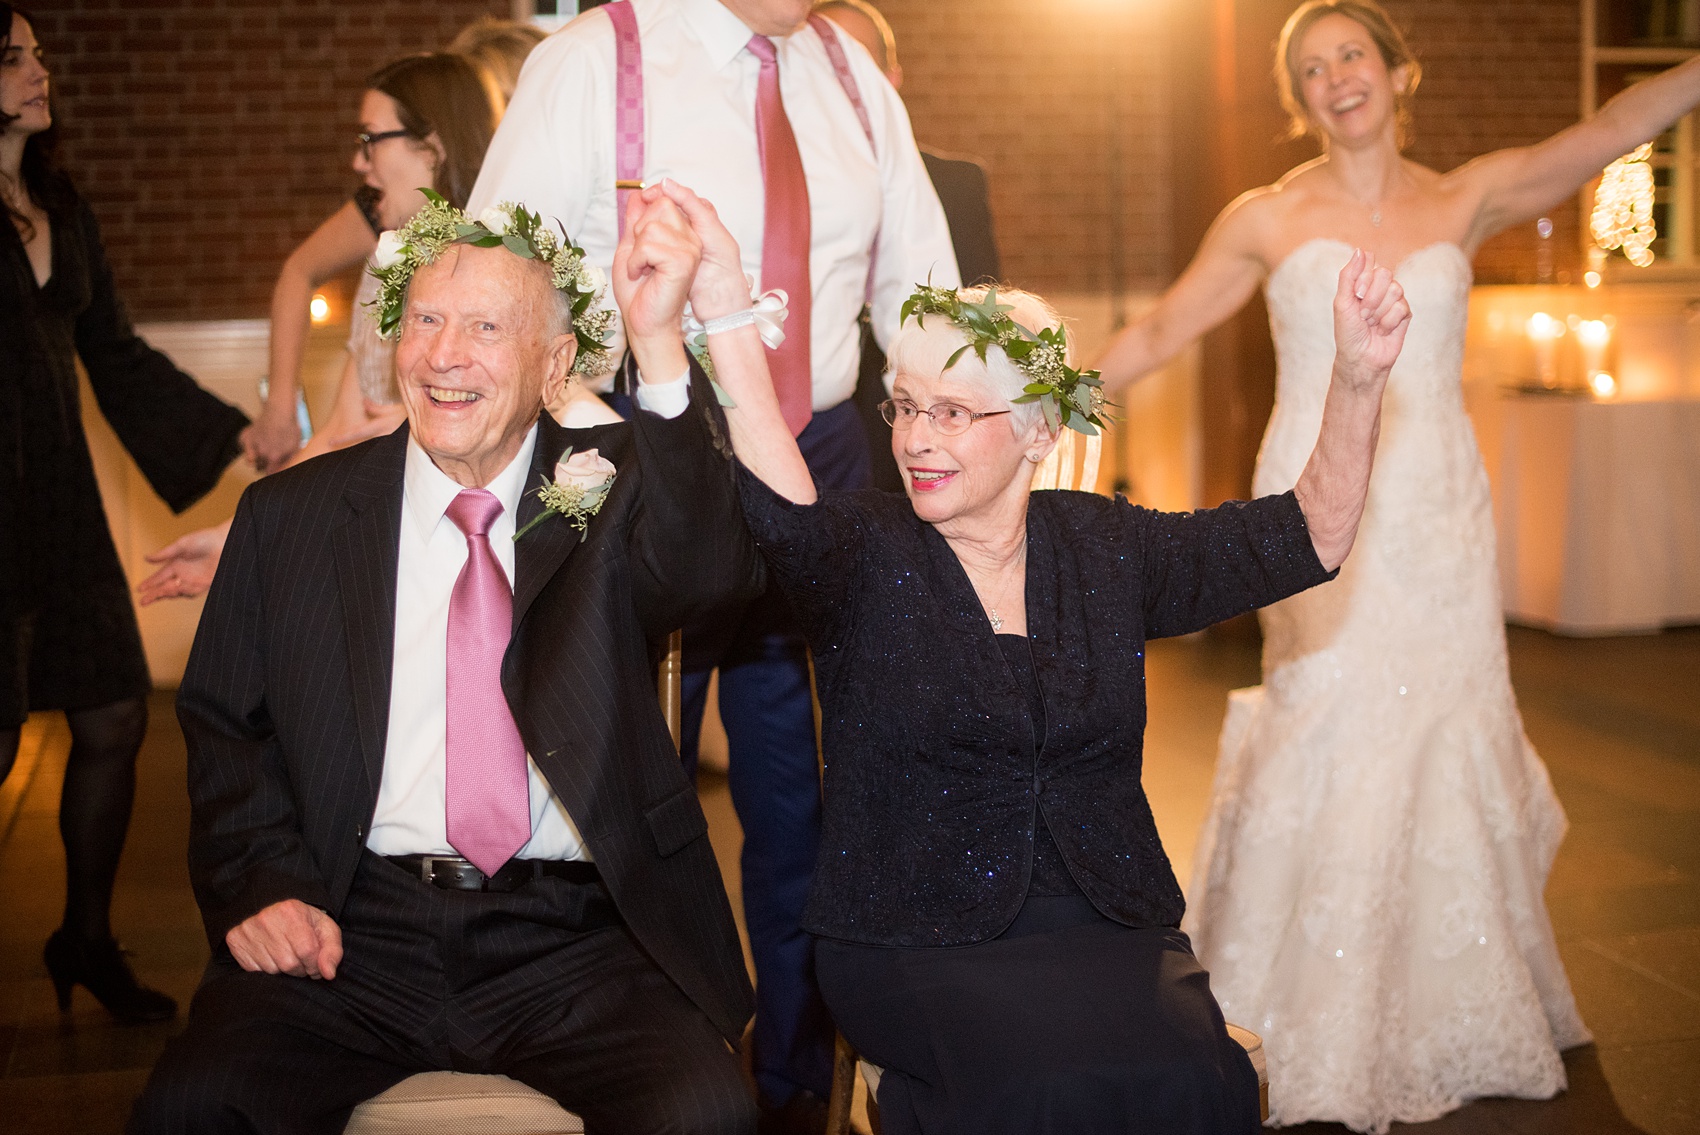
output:
{"label": "seated older woman's raised forearm with white ribbon at wrist", "polygon": [[[690,287],[690,309],[697,319],[709,323],[750,308],[750,284],[745,280],[738,241],[726,231],[714,206],[673,180],[651,185],[641,197],[651,202],[661,197],[672,200],[702,241],[702,263]],[[636,200],[638,197],[632,199]],[[711,335],[709,359],[714,362],[716,381],[733,401],[726,408],[726,423],[731,426],[738,460],[785,500],[813,505],[814,479],[779,409],[756,328],[746,325]]]}

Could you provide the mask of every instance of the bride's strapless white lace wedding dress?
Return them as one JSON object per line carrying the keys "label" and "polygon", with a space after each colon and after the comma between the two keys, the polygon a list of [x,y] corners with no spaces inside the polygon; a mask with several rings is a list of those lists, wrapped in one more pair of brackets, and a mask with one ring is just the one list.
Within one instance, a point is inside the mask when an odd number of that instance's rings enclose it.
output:
{"label": "bride's strapless white lace wedding dress", "polygon": [[[1268,279],[1280,360],[1253,491],[1299,479],[1352,248]],[[1263,1035],[1275,1123],[1360,1132],[1564,1087],[1588,1040],[1542,902],[1564,810],[1506,669],[1493,505],[1460,389],[1470,265],[1408,257],[1357,545],[1263,612],[1263,685],[1229,700],[1187,929],[1229,1021]]]}

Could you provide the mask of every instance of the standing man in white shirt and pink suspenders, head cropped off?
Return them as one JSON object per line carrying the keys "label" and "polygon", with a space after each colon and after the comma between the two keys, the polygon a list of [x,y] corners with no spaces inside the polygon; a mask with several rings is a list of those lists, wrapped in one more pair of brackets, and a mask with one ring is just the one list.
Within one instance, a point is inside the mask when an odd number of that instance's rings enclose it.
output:
{"label": "standing man in white shirt and pink suspenders, head cropped off", "polygon": [[[790,292],[787,345],[770,360],[784,401],[785,355],[806,352],[794,421],[802,454],[821,488],[869,486],[867,435],[852,401],[862,306],[870,304],[884,345],[918,280],[957,284],[949,226],[903,102],[843,36],[833,46],[858,110],[828,41],[808,22],[809,0],[631,0],[629,15],[643,59],[641,129],[631,131],[643,139],[641,178],[672,177],[711,200],[756,285]],[[532,51],[469,202],[474,214],[502,200],[532,202],[559,216],[602,265],[612,262],[619,236],[617,160],[631,144],[622,148],[617,129],[615,29],[598,8]],[[824,31],[836,36],[831,24]],[[768,68],[777,68],[777,119],[763,117],[775,112],[763,88]],[[620,126],[631,127],[629,114]],[[775,136],[794,138],[806,216],[784,214],[801,197],[794,187],[779,192],[779,158],[789,150],[770,150]],[[785,265],[768,246],[777,229],[806,233],[806,263]],[[819,841],[806,647],[774,591],[743,620],[687,627],[685,664],[683,749],[692,768],[709,673],[716,664],[721,673],[733,802],[745,827],[763,1130],[818,1130],[833,1030],[814,987],[813,943],[799,926]]]}

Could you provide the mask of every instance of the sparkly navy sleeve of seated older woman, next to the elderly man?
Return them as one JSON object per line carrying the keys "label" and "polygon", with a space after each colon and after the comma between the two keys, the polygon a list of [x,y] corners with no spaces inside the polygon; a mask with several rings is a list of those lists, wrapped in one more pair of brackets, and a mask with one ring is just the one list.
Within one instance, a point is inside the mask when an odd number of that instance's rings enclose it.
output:
{"label": "sparkly navy sleeve of seated older woman, next to the elderly man", "polygon": [[745,522],[768,571],[819,651],[843,642],[855,620],[855,593],[865,542],[860,493],[823,493],[814,505],[796,505],[738,464]]}

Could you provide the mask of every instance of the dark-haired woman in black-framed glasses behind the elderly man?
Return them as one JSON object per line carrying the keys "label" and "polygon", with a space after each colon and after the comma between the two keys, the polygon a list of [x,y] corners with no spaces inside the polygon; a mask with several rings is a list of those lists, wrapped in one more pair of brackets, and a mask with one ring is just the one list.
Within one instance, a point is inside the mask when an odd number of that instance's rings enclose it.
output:
{"label": "dark-haired woman in black-framed glasses behind the elderly man", "polygon": [[[291,253],[272,294],[274,364],[280,348],[294,352],[294,360],[284,364],[292,374],[299,367],[299,350],[304,342],[304,328],[301,335],[294,331],[279,335],[275,323],[280,314],[279,296],[286,291],[294,296],[298,285],[308,282],[308,274],[318,270],[308,265],[316,262],[320,268],[328,267],[357,243],[355,238],[364,241],[374,231],[406,224],[425,204],[425,194],[420,190],[423,185],[434,187],[456,207],[464,206],[495,127],[496,112],[486,87],[464,56],[450,53],[405,56],[367,80],[366,95],[360,99],[354,168],[366,180],[360,200],[367,204],[372,221],[367,228],[364,217],[354,216],[359,224],[355,231],[345,216],[354,206],[343,206]],[[367,245],[369,253],[376,248],[376,238]],[[314,260],[318,257],[323,260]],[[371,272],[362,274],[348,318],[348,362],[337,384],[337,401],[330,418],[304,447],[291,450],[279,467],[389,433],[406,416],[396,392],[396,347],[379,338],[367,306],[376,296],[376,277]],[[286,299],[291,311],[292,304],[294,299]],[[267,409],[270,404],[267,401]],[[226,520],[190,532],[148,556],[148,562],[160,568],[141,581],[141,603],[206,593],[212,573],[218,571],[228,534]]]}

